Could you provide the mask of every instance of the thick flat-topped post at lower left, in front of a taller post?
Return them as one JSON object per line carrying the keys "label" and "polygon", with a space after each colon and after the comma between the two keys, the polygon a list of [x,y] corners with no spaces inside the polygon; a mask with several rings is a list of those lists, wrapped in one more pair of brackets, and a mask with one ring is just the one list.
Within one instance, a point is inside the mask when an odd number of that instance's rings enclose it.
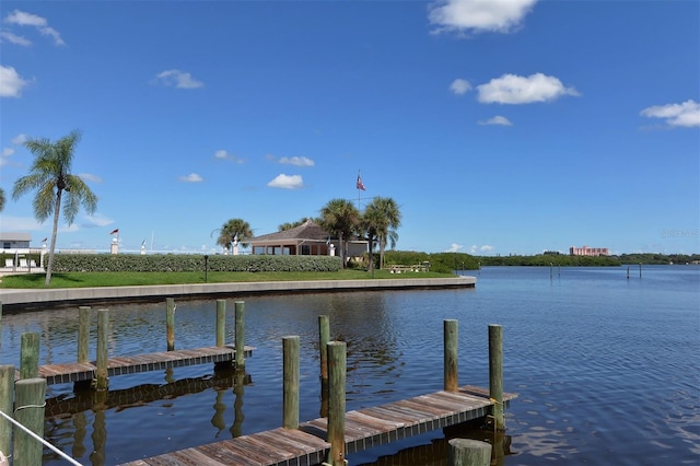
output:
{"label": "thick flat-topped post at lower left, in front of a taller post", "polygon": [[[14,420],[44,438],[44,405],[46,403],[46,378],[23,378],[14,384]],[[44,444],[33,439],[22,429],[14,429],[12,464],[14,466],[35,466],[42,464]]]}

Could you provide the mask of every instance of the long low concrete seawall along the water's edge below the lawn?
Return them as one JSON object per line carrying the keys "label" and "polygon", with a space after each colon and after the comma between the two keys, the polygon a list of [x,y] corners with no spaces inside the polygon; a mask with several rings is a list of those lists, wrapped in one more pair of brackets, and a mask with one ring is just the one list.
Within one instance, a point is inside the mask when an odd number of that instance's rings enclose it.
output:
{"label": "long low concrete seawall along the water's edge below the lawn", "polygon": [[400,278],[376,280],[261,281],[150,287],[61,288],[56,290],[0,289],[3,311],[31,311],[69,305],[112,302],[156,302],[165,298],[243,298],[255,294],[320,293],[334,291],[381,291],[474,288],[475,277]]}

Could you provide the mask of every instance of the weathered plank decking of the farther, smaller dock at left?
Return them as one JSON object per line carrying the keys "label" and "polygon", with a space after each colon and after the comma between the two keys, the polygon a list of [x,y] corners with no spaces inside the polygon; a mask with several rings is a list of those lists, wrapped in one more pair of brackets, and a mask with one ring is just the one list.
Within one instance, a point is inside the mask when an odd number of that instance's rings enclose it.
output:
{"label": "weathered plank decking of the farther, smaller dock at left", "polygon": [[[245,347],[245,357],[253,354],[253,347]],[[231,362],[235,358],[233,347],[208,347],[190,350],[162,351],[151,354],[120,356],[107,360],[107,376],[137,374],[187,365]],[[46,378],[47,385],[91,381],[96,377],[97,366],[93,362],[47,364],[38,368],[38,376]],[[15,371],[19,380],[20,372]]]}

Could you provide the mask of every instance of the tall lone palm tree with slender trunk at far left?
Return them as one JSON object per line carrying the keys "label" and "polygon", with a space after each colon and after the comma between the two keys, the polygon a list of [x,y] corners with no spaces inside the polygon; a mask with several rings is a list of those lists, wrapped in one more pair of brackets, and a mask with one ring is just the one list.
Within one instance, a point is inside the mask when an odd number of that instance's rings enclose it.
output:
{"label": "tall lone palm tree with slender trunk at far left", "polygon": [[85,208],[88,213],[94,213],[97,209],[97,196],[80,176],[70,173],[73,152],[75,144],[80,141],[80,131],[73,130],[56,142],[51,142],[47,138],[32,138],[25,141],[24,145],[35,155],[34,163],[28,175],[14,182],[12,190],[12,198],[15,200],[30,190],[36,190],[32,203],[34,215],[39,222],[44,222],[51,213],[54,214],[51,247],[48,252],[46,266],[45,284],[47,287],[51,282],[61,207],[63,208],[63,219],[69,225],[75,220],[81,206]]}

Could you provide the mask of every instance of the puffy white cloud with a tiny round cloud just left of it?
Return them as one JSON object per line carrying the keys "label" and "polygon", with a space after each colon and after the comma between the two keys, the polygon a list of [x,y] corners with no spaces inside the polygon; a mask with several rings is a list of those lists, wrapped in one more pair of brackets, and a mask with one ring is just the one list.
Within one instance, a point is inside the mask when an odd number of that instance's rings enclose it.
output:
{"label": "puffy white cloud with a tiny round cloud just left of it", "polygon": [[477,86],[479,102],[485,104],[529,104],[553,101],[562,95],[580,95],[573,88],[565,88],[559,79],[542,73],[520,77],[503,74],[487,84]]}

